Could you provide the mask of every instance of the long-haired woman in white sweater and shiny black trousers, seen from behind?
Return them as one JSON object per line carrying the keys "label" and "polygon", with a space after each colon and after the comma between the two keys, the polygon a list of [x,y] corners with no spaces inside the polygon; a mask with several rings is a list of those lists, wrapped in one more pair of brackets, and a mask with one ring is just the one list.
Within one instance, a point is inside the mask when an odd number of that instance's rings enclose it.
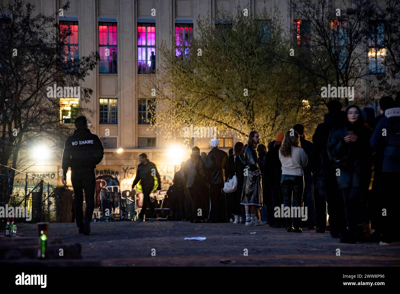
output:
{"label": "long-haired woman in white sweater and shiny black trousers, seen from behind", "polygon": [[[303,203],[303,167],[307,164],[307,155],[303,148],[300,147],[299,136],[294,130],[286,132],[279,148],[279,159],[282,163],[280,185],[282,187],[284,209],[290,210],[290,212],[297,211],[296,216],[290,213],[290,216],[286,217],[286,229],[290,233],[301,233],[301,215],[299,215],[299,211]],[[292,199],[294,209],[292,209]]]}

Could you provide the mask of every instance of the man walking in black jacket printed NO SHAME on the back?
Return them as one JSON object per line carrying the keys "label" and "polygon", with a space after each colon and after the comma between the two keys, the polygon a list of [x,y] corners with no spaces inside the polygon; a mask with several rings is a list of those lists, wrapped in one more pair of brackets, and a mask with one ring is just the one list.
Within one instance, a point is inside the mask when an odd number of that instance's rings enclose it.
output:
{"label": "man walking in black jacket printed NO SHAME on the back", "polygon": [[[78,232],[90,234],[90,222],[94,211],[94,192],[96,179],[94,168],[104,155],[104,149],[97,135],[88,129],[86,117],[78,116],[74,121],[76,130],[69,136],[62,152],[61,182],[66,186],[66,174],[71,168],[71,182],[74,189],[74,212]],[[85,192],[85,218],[83,217],[83,191]]]}

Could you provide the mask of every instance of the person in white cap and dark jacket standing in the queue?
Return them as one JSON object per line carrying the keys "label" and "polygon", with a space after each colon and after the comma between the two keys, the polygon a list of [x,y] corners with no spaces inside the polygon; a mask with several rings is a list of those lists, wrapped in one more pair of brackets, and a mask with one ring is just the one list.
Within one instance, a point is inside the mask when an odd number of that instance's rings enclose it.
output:
{"label": "person in white cap and dark jacket standing in the queue", "polygon": [[206,171],[208,176],[208,193],[210,197],[210,212],[208,222],[226,222],[226,199],[222,193],[224,188],[224,168],[228,154],[218,149],[220,141],[214,138],[210,141],[212,147],[206,158]]}

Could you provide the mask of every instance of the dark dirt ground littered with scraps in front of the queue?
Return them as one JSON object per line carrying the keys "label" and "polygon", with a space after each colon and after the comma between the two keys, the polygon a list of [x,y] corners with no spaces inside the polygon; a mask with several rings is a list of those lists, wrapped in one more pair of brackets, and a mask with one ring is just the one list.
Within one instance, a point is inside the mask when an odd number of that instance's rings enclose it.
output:
{"label": "dark dirt ground littered with scraps in front of the queue", "polygon": [[[36,224],[18,224],[18,233],[34,237]],[[49,236],[79,242],[83,258],[103,266],[400,266],[400,242],[340,244],[328,233],[287,233],[268,225],[92,222],[90,236],[84,236],[74,223],[54,223]]]}

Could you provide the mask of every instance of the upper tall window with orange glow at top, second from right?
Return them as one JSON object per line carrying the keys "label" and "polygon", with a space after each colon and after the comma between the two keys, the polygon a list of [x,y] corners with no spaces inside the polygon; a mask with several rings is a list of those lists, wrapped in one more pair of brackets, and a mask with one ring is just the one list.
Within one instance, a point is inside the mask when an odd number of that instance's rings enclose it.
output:
{"label": "upper tall window with orange glow at top, second from right", "polygon": [[342,68],[347,58],[347,22],[341,20],[331,20],[331,40],[333,52],[337,54],[338,66]]}

